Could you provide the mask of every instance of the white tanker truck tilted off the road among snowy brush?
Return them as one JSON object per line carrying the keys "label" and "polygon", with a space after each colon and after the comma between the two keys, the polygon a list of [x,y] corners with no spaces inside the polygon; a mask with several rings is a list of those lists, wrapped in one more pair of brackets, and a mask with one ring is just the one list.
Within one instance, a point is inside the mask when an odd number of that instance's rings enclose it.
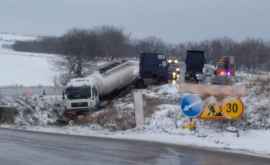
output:
{"label": "white tanker truck tilted off the road among snowy brush", "polygon": [[95,109],[101,99],[134,82],[139,74],[135,61],[110,62],[85,78],[72,79],[63,92],[68,112]]}

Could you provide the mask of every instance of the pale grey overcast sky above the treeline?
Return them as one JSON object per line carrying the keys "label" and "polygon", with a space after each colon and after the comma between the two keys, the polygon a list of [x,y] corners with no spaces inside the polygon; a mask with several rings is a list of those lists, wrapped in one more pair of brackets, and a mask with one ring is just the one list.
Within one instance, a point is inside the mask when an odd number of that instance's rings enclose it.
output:
{"label": "pale grey overcast sky above the treeline", "polygon": [[228,36],[270,40],[270,0],[1,0],[0,32],[60,35],[116,25],[172,43]]}

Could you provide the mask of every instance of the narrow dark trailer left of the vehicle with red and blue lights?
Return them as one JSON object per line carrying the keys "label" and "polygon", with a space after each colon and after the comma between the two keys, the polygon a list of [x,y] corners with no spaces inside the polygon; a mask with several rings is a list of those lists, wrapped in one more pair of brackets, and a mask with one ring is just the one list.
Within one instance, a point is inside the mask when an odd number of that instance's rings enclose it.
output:
{"label": "narrow dark trailer left of the vehicle with red and blue lights", "polygon": [[198,82],[198,74],[203,74],[203,67],[205,64],[204,51],[188,50],[186,56],[186,73],[185,80]]}

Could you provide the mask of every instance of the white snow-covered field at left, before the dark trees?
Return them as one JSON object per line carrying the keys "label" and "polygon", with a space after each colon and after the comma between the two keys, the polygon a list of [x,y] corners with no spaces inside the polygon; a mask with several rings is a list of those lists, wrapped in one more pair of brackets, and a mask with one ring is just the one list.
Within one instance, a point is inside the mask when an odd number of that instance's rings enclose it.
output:
{"label": "white snow-covered field at left, before the dark trees", "polygon": [[0,34],[0,86],[37,86],[53,85],[56,72],[53,71],[52,55],[15,52],[3,45],[10,45],[16,40],[32,40],[32,36]]}

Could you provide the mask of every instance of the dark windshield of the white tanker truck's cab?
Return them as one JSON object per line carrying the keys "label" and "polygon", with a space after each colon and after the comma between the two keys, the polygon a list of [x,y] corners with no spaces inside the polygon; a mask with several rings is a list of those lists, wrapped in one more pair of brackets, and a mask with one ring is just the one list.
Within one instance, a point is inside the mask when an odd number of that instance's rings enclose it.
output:
{"label": "dark windshield of the white tanker truck's cab", "polygon": [[88,99],[91,97],[91,88],[84,87],[68,87],[65,91],[68,99]]}

